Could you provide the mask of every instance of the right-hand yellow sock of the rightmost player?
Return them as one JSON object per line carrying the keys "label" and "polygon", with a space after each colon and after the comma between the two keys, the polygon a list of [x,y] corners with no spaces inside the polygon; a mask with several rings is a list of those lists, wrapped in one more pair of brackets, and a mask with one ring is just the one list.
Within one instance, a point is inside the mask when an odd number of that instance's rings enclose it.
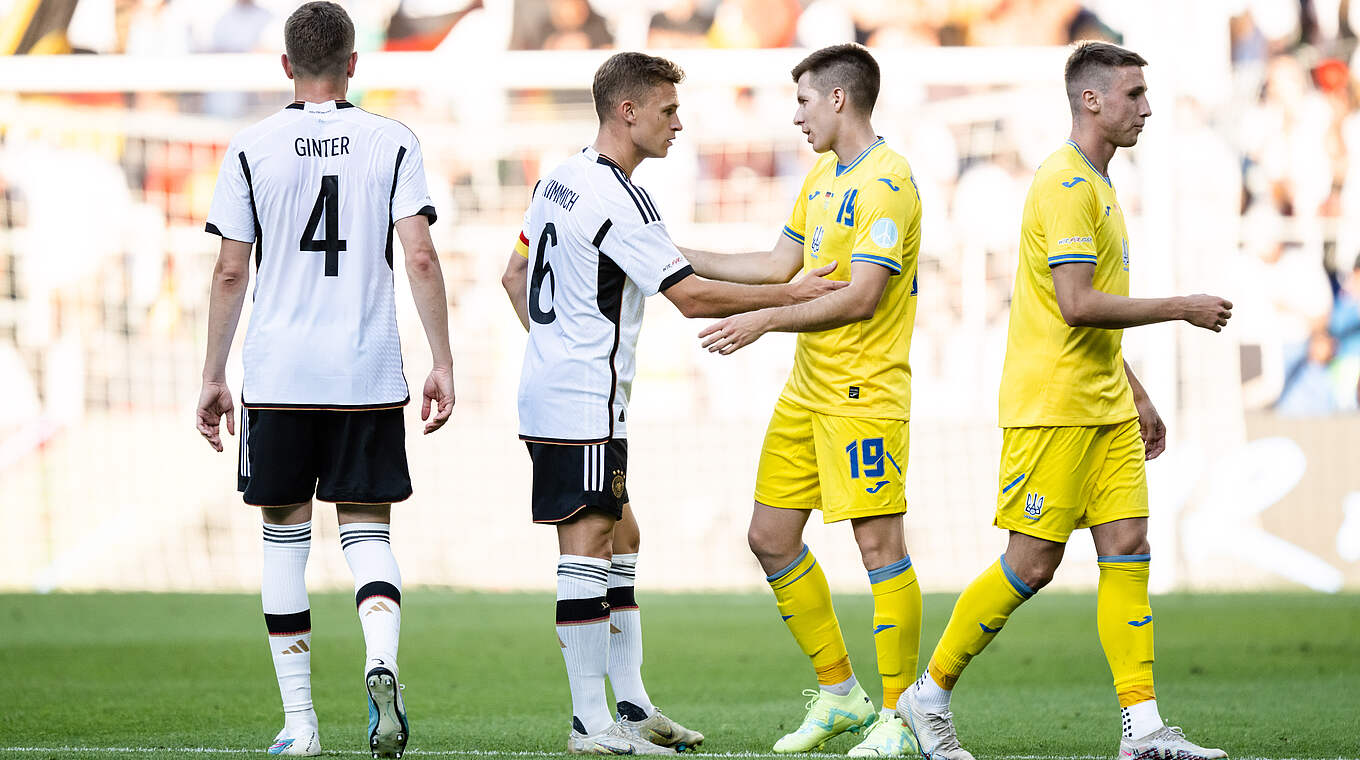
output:
{"label": "right-hand yellow sock of the rightmost player", "polygon": [[1110,661],[1119,707],[1156,699],[1152,691],[1152,605],[1148,571],[1152,555],[1099,557],[1096,631]]}

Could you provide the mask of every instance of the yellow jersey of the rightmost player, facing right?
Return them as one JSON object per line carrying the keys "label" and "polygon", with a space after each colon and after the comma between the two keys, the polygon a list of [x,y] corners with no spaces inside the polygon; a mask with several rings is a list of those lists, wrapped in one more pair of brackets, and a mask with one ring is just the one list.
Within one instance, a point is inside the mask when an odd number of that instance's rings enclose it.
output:
{"label": "yellow jersey of the rightmost player, facing right", "polygon": [[1062,319],[1053,266],[1095,264],[1096,290],[1129,295],[1129,232],[1110,178],[1076,143],[1044,159],[1020,226],[1020,265],[1001,371],[1001,427],[1100,426],[1138,416],[1119,349],[1123,330]]}

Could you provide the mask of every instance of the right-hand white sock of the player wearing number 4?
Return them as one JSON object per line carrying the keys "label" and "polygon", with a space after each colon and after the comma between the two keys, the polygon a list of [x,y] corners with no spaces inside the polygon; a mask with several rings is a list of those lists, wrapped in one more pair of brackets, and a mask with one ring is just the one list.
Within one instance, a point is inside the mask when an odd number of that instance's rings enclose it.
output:
{"label": "right-hand white sock of the player wearing number 4", "polygon": [[401,634],[401,571],[392,556],[392,528],[385,522],[340,526],[340,548],[354,572],[354,604],[359,609],[367,650],[364,673],[384,666],[397,674]]}

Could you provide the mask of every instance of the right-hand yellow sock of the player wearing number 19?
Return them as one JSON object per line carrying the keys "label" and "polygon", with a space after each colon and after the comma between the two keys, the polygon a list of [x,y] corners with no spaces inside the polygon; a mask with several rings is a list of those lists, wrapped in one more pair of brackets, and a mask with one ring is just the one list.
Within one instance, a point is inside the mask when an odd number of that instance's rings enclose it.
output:
{"label": "right-hand yellow sock of the player wearing number 19", "polygon": [[883,676],[883,707],[898,706],[921,654],[921,586],[911,557],[869,571],[873,590],[873,649]]}

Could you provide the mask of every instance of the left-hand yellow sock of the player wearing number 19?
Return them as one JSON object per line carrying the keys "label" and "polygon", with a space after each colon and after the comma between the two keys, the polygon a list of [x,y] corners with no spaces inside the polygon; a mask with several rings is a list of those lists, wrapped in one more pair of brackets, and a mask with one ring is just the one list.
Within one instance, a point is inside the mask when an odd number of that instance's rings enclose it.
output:
{"label": "left-hand yellow sock of the player wearing number 19", "polygon": [[850,654],[846,653],[840,624],[831,606],[831,589],[816,557],[802,547],[793,564],[766,578],[779,605],[779,616],[802,653],[812,658],[817,683],[828,687],[850,678]]}

